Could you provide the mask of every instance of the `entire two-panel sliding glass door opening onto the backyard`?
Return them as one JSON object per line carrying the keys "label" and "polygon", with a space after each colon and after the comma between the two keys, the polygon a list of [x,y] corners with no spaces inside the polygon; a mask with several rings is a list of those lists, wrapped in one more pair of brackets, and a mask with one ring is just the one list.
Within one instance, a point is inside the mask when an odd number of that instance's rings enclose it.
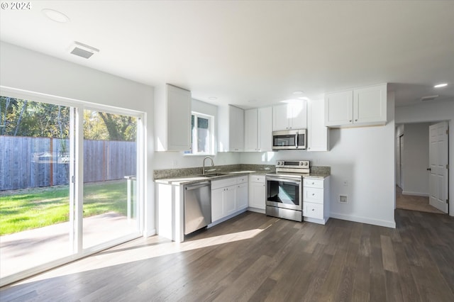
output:
{"label": "entire two-panel sliding glass door opening onto the backyard", "polygon": [[0,96],[0,286],[140,236],[140,116]]}

